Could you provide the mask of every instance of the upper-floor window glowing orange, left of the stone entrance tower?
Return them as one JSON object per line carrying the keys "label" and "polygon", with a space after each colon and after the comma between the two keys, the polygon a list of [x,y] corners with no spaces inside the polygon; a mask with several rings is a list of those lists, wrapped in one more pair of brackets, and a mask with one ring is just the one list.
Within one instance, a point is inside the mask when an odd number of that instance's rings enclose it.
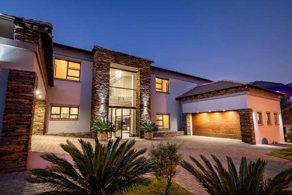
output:
{"label": "upper-floor window glowing orange, left of the stone entrance tower", "polygon": [[80,63],[55,59],[54,78],[80,81]]}

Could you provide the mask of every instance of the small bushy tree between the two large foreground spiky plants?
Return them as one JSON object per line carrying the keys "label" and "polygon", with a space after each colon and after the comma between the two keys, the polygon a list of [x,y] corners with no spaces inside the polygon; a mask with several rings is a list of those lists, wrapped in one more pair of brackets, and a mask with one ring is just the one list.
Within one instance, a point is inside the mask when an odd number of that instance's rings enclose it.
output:
{"label": "small bushy tree between the two large foreground spiky plants", "polygon": [[182,154],[179,153],[179,148],[176,143],[167,142],[165,145],[160,142],[156,147],[152,145],[149,156],[158,166],[158,171],[155,172],[157,178],[163,176],[167,178],[167,186],[165,195],[169,195],[171,187],[171,179],[177,173],[177,165],[182,160]]}

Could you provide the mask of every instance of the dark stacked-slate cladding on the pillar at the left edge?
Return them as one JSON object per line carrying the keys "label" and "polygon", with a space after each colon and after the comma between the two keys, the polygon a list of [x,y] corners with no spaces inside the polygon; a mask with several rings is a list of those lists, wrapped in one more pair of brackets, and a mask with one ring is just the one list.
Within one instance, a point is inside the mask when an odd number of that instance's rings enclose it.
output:
{"label": "dark stacked-slate cladding on the pillar at the left edge", "polygon": [[25,171],[35,107],[35,72],[10,69],[0,140],[0,173]]}

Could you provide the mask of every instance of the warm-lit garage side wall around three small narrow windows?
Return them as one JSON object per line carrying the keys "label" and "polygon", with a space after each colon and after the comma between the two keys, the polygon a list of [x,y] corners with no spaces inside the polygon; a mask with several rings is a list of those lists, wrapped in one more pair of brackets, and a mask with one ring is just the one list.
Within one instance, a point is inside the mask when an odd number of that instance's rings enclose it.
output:
{"label": "warm-lit garage side wall around three small narrow windows", "polygon": [[[263,98],[266,97],[266,98]],[[255,136],[256,144],[262,144],[266,141],[268,143],[284,142],[283,124],[281,117],[280,101],[277,100],[277,95],[272,95],[269,93],[262,93],[258,90],[252,91],[247,95],[247,105],[252,108],[254,113],[254,125],[255,125]],[[256,112],[262,113],[263,124],[259,125],[257,123]],[[267,124],[266,112],[271,113],[272,124]],[[274,123],[274,113],[277,113],[279,124]]]}

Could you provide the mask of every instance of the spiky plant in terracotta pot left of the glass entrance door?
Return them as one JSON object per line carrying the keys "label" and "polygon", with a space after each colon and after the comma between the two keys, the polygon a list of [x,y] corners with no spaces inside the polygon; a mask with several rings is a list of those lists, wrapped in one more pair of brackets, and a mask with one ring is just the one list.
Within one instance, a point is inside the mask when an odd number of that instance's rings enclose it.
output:
{"label": "spiky plant in terracotta pot left of the glass entrance door", "polygon": [[108,140],[108,133],[114,132],[114,125],[105,117],[98,117],[91,126],[92,137],[97,133],[99,140]]}

